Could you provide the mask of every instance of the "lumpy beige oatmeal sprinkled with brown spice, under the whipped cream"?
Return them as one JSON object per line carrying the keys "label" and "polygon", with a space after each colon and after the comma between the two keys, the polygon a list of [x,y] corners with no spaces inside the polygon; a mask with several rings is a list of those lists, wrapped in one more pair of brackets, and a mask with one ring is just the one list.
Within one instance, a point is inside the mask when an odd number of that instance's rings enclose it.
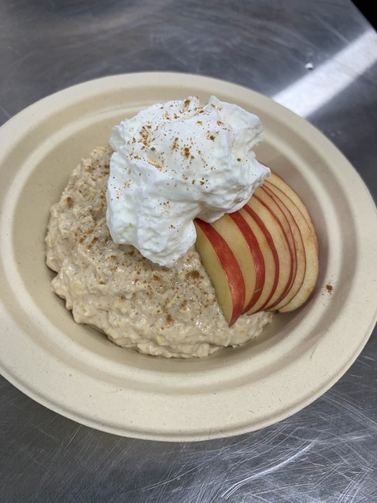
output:
{"label": "lumpy beige oatmeal sprinkled with brown spice, under the whipped cream", "polygon": [[165,268],[112,241],[105,198],[111,155],[110,147],[98,148],[83,160],[51,209],[52,290],[75,321],[98,327],[121,347],[168,358],[207,356],[257,337],[272,314],[240,316],[229,327],[193,247]]}

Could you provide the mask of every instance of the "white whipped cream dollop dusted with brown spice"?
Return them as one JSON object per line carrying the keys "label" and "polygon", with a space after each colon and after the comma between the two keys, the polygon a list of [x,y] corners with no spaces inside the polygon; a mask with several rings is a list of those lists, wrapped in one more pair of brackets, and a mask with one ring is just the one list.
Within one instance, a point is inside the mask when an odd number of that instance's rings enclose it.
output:
{"label": "white whipped cream dollop dusted with brown spice", "polygon": [[239,210],[269,175],[253,152],[260,119],[214,96],[157,103],[112,129],[106,220],[112,239],[172,267],[193,219]]}

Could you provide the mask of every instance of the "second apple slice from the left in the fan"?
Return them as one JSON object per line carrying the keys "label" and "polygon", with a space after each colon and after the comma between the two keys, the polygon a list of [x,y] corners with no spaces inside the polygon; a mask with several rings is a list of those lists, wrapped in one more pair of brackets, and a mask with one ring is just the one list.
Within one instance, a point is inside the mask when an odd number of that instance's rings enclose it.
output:
{"label": "second apple slice from the left in the fan", "polygon": [[[224,214],[223,217],[214,221],[211,225],[221,235],[221,238],[228,243],[241,269],[245,284],[245,300],[242,309],[244,311],[249,306],[256,290],[256,267],[253,259],[253,250],[246,240],[249,236],[241,231],[230,214]],[[245,227],[247,227],[246,222]]]}

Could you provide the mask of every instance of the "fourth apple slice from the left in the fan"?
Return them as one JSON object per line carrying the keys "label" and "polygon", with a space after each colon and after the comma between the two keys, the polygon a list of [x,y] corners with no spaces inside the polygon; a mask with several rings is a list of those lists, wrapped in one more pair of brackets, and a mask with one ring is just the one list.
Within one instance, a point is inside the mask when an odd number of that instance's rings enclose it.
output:
{"label": "fourth apple slice from the left in the fan", "polygon": [[257,221],[260,228],[263,229],[272,254],[274,254],[274,260],[277,263],[278,277],[276,288],[268,302],[260,308],[265,310],[272,309],[286,295],[292,281],[293,265],[290,248],[279,219],[277,219],[271,208],[258,198],[258,194],[254,194],[250,201],[246,203],[245,210],[254,212],[253,218]]}

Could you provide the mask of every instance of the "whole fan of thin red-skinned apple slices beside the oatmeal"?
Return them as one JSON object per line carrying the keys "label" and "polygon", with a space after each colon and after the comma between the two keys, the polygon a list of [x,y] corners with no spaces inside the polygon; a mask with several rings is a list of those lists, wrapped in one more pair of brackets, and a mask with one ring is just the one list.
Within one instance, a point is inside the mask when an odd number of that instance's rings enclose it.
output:
{"label": "whole fan of thin red-skinned apple slices beside the oatmeal", "polygon": [[309,211],[272,173],[250,201],[212,224],[195,219],[195,247],[231,326],[242,314],[297,309],[318,277],[318,240]]}

